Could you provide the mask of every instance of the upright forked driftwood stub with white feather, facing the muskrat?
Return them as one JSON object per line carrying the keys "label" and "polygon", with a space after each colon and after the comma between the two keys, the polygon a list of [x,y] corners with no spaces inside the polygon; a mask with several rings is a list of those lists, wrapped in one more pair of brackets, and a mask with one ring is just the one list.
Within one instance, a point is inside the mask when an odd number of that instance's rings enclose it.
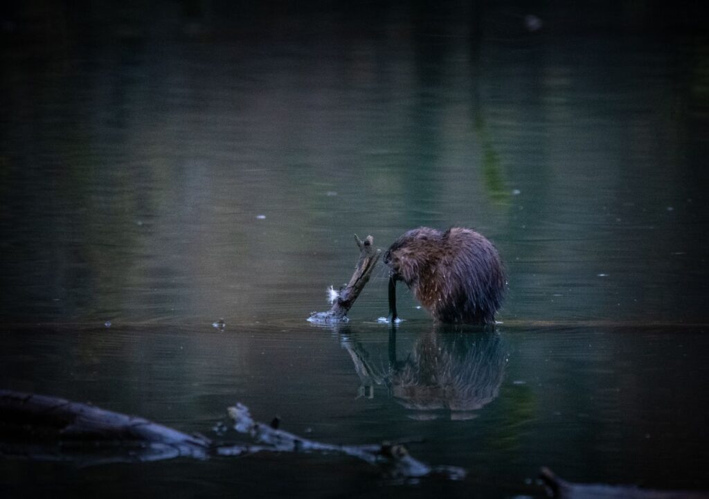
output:
{"label": "upright forked driftwood stub with white feather, facing the muskrat", "polygon": [[357,300],[359,293],[362,292],[364,286],[369,282],[369,276],[372,275],[374,270],[374,265],[379,256],[381,255],[381,250],[377,250],[374,247],[374,237],[368,235],[367,238],[362,241],[354,235],[354,241],[357,242],[357,247],[359,247],[359,262],[357,262],[357,267],[354,268],[354,274],[350,278],[350,282],[347,286],[340,289],[337,298],[333,302],[333,308],[330,308],[327,312],[315,312],[312,313],[308,320],[311,323],[338,323],[347,322],[347,312],[354,305],[354,301]]}

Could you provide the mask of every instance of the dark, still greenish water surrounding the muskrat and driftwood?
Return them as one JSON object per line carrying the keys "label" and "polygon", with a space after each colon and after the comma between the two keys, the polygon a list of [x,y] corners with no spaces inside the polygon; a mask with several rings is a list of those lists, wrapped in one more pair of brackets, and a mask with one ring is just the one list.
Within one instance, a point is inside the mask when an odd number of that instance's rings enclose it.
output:
{"label": "dark, still greenish water surrounding the muskrat and driftwood", "polygon": [[[705,38],[189,6],[6,13],[0,387],[186,432],[240,401],[324,442],[414,439],[469,475],[6,459],[0,493],[537,496],[540,466],[709,489]],[[306,323],[354,233],[386,247],[418,225],[496,243],[496,334],[437,328],[400,293],[394,359],[383,268],[348,325]]]}

